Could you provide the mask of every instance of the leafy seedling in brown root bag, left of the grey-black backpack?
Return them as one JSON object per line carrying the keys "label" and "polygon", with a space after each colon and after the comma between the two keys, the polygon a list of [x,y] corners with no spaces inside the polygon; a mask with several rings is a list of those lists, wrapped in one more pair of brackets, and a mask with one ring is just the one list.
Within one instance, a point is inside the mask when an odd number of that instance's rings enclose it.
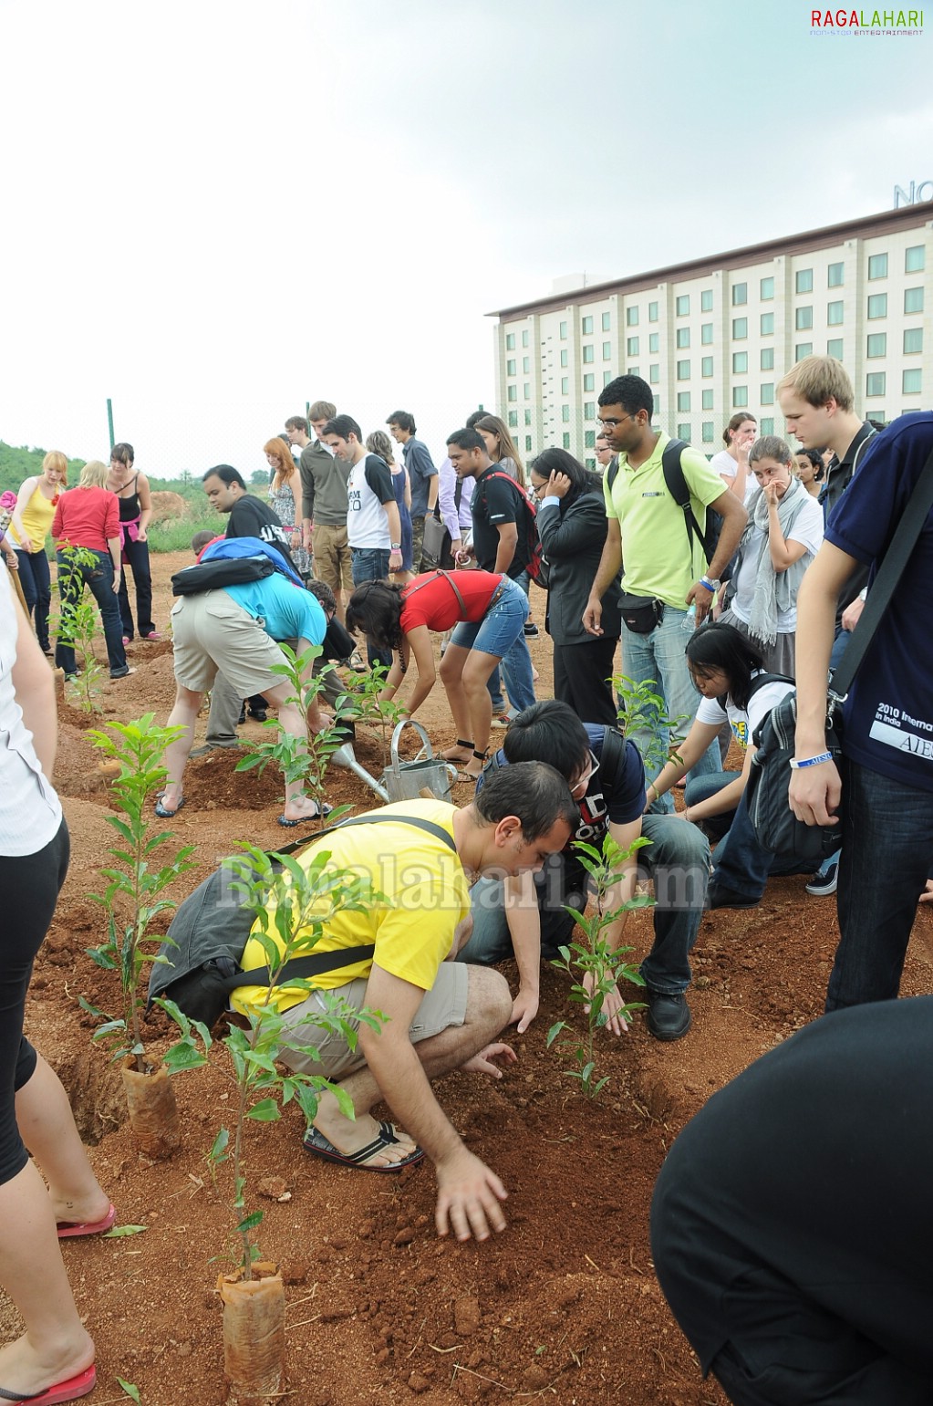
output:
{"label": "leafy seedling in brown root bag, left of the grey-black backpack", "polygon": [[79,1000],[84,1011],[104,1021],[94,1039],[111,1046],[114,1060],[124,1060],[131,1125],[149,1157],[170,1156],[178,1146],[174,1094],[164,1070],[146,1056],[139,990],[143,966],[156,959],[162,942],[162,935],[152,932],[153,920],[176,907],[166,890],[193,868],[194,846],[167,848],[173,832],[155,831],[148,820],[149,799],[166,779],[162,755],[177,735],[178,728],[157,727],[153,713],[90,734],[94,747],[118,768],[111,790],[119,814],[108,815],[107,824],[119,839],[108,851],[114,866],[101,869],[104,893],[90,896],[107,914],[107,941],[89,948],[87,955],[104,972],[117,972],[119,1014],[107,1015],[83,995]]}

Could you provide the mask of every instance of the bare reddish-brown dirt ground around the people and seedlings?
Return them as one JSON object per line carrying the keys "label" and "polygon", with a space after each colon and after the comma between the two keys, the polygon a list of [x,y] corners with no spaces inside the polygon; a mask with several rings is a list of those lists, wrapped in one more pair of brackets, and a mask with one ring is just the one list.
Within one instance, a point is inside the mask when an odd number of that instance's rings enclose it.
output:
{"label": "bare reddish-brown dirt ground around the people and seedlings", "polygon": [[[155,558],[162,627],[167,581],[184,560]],[[542,619],[542,609],[537,614]],[[540,695],[548,696],[547,637],[531,648]],[[104,721],[148,710],[164,721],[174,693],[170,647],[141,643],[129,657],[138,672],[104,685]],[[440,686],[423,711],[436,745],[452,741]],[[219,1059],[207,1071],[180,1076],[181,1149],[170,1163],[138,1156],[118,1076],[91,1045],[90,1021],[77,1005],[79,994],[114,1004],[111,977],[84,955],[101,938],[101,912],[89,894],[103,887],[98,868],[112,842],[108,793],[86,730],[83,714],[62,709],[56,783],[73,858],[35,966],[27,1031],[72,1094],[118,1223],[146,1232],[65,1241],[63,1254],[97,1343],[100,1385],[91,1399],[98,1406],[126,1400],[115,1381],[122,1376],[136,1384],[145,1406],[215,1406],[226,1388],[214,1284],[225,1267],[216,1260],[226,1253],[230,1218],[204,1154],[226,1118],[230,1084]],[[250,723],[243,733],[257,737],[261,728]],[[381,773],[375,734],[361,733],[357,756]],[[278,776],[237,775],[235,761],[215,752],[188,766],[187,806],[173,830],[180,842],[198,846],[198,868],[176,897],[237,839],[270,849],[282,842]],[[332,800],[357,810],[375,803],[350,773],[334,769],[330,780]],[[649,931],[651,915],[632,914],[634,956],[644,953]],[[920,912],[905,994],[933,988],[932,934],[930,914]],[[690,1035],[659,1045],[637,1018],[627,1038],[604,1036],[600,1069],[610,1083],[596,1105],[545,1049],[548,1028],[568,1014],[563,979],[545,972],[541,1012],[513,1039],[514,1069],[496,1084],[481,1076],[438,1084],[454,1125],[510,1192],[509,1227],[485,1244],[437,1239],[430,1166],[389,1178],[312,1163],[296,1109],[278,1123],[250,1125],[250,1208],[264,1209],[263,1256],[280,1261],[288,1284],[288,1399],[301,1406],[412,1395],[436,1406],[479,1398],[722,1406],[653,1275],[652,1185],[673,1137],[704,1099],[819,1014],[836,935],[835,901],[809,898],[804,879],[773,882],[757,910],[710,914],[694,950]],[[514,979],[514,967],[503,970]],[[164,1032],[157,1018],[156,1049]],[[273,1177],[289,1199],[257,1195]],[[266,1189],[281,1194],[282,1187]],[[20,1330],[8,1303],[0,1303],[0,1327],[7,1336]]]}

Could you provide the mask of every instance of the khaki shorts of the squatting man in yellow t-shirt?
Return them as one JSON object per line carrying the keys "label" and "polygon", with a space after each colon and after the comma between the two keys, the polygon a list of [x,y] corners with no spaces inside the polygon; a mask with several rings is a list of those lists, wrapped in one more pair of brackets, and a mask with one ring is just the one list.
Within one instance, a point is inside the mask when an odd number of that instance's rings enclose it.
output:
{"label": "khaki shorts of the squatting man in yellow t-shirt", "polygon": [[[332,991],[312,991],[311,995],[285,1011],[285,1039],[288,1045],[281,1053],[282,1064],[301,1074],[323,1074],[325,1078],[346,1078],[355,1069],[363,1069],[365,1060],[360,1053],[360,1046],[351,1050],[343,1035],[332,1035],[320,1024],[320,1012],[326,1010],[322,997],[343,997],[354,1011],[365,1005],[367,979],[347,981]],[[409,1026],[412,1045],[427,1040],[431,1035],[440,1035],[451,1025],[462,1025],[466,1019],[466,993],[469,986],[469,967],[464,962],[441,962],[437,979],[430,991],[415,1012],[415,1019]],[[348,1024],[360,1028],[360,1022],[348,1017]],[[289,1046],[313,1045],[319,1059],[301,1054],[298,1049]]]}

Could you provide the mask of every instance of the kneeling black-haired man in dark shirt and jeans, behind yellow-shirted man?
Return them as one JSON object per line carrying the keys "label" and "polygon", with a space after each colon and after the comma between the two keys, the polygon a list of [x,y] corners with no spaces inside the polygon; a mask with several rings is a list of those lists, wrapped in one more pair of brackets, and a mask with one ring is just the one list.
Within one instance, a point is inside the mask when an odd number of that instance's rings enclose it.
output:
{"label": "kneeling black-haired man in dark shirt and jeans, behind yellow-shirted man", "polygon": [[[710,876],[710,845],[703,832],[673,815],[642,814],[645,768],[634,742],[613,727],[582,723],[566,703],[535,703],[510,723],[502,748],[489,759],[479,786],[510,762],[548,761],[570,786],[580,824],[566,849],[551,855],[537,875],[481,879],[471,890],[474,931],[459,952],[461,962],[489,965],[516,957],[518,994],[511,1024],[524,1033],[538,1010],[541,957],[556,956],[570,941],[573,917],[565,904],[583,911],[587,873],[573,841],[597,848],[606,832],[625,851],[635,839],[648,845],[624,865],[620,883],[606,897],[606,911],[631,898],[639,879],[655,887],[655,942],[641,963],[648,1002],[646,1024],[655,1039],[677,1040],[690,1029],[690,949],[696,942]],[[622,912],[604,929],[610,949],[622,946]],[[622,995],[613,987],[603,1002],[607,1028],[621,1035],[628,1026],[620,1014]]]}

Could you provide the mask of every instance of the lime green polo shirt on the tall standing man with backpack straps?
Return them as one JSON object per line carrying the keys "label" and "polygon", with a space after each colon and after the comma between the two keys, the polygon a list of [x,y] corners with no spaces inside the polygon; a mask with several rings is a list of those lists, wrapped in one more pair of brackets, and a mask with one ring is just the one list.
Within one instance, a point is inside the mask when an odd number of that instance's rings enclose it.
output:
{"label": "lime green polo shirt on the tall standing man with backpack straps", "polygon": [[[686,610],[686,596],[707,569],[703,547],[694,536],[693,561],[683,509],[667,492],[660,463],[669,434],[659,434],[651,458],[629,468],[618,456],[618,474],[611,492],[603,479],[607,517],[618,520],[622,536],[622,591],[634,596],[656,596],[665,605]],[[700,529],[707,527],[707,506],[724,492],[722,479],[696,449],[680,454],[693,512]],[[726,489],[728,492],[728,489]]]}

